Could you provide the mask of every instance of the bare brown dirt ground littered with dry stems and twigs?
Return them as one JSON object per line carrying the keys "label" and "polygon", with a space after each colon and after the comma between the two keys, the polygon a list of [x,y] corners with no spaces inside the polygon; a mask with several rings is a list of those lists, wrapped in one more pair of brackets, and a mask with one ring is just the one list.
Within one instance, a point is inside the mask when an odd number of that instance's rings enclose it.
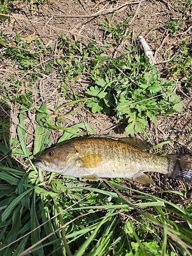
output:
{"label": "bare brown dirt ground littered with dry stems and twigs", "polygon": [[[13,37],[15,33],[20,34],[23,41],[31,36],[40,38],[42,45],[52,45],[55,47],[58,44],[59,35],[63,33],[64,37],[69,38],[71,41],[80,38],[82,44],[88,44],[90,38],[95,36],[95,40],[98,44],[103,44],[104,40],[108,39],[106,32],[101,30],[99,20],[106,21],[106,16],[112,17],[115,15],[115,19],[119,23],[123,22],[127,17],[131,15],[135,16],[131,25],[130,39],[126,39],[123,42],[121,49],[117,52],[117,56],[122,52],[126,45],[136,45],[137,37],[141,34],[150,45],[153,50],[157,68],[162,77],[169,79],[169,62],[164,61],[165,58],[169,59],[179,50],[179,44],[183,40],[188,39],[188,47],[191,47],[191,27],[190,20],[183,19],[173,5],[170,5],[170,1],[141,1],[139,2],[126,2],[121,1],[91,1],[91,0],[60,0],[60,1],[45,1],[44,5],[34,1],[33,8],[26,3],[17,4],[13,3],[9,6],[10,10],[10,22],[4,20],[2,22],[1,30],[4,31],[9,37]],[[170,19],[182,19],[183,28],[178,30],[178,33],[173,35],[168,29],[165,28],[166,20]],[[120,45],[114,45],[109,48],[109,53],[114,54],[117,47]],[[35,49],[30,49],[34,51]],[[60,52],[62,54],[62,52]],[[44,59],[46,60],[46,59]],[[42,61],[44,61],[42,60]],[[0,78],[5,80],[9,74],[13,74],[15,79],[19,78],[17,70],[12,69],[11,63],[7,60],[8,65],[0,66]],[[20,78],[19,78],[20,79]],[[52,83],[54,81],[54,84]],[[57,97],[60,79],[57,79],[56,71],[49,76],[38,78],[38,81],[32,85],[31,90],[34,91],[35,103],[41,104],[44,99],[37,98],[38,91],[41,91],[45,98],[48,100],[48,108],[54,108]],[[176,81],[177,82],[177,81]],[[82,85],[83,77],[78,83]],[[171,154],[190,152],[192,147],[192,137],[190,136],[188,129],[192,129],[191,114],[192,114],[192,93],[190,90],[182,87],[182,84],[178,82],[179,89],[177,94],[182,97],[183,110],[181,113],[175,113],[169,115],[166,118],[159,116],[157,124],[151,124],[145,129],[146,134],[151,139],[153,144],[158,144],[164,140],[174,140],[172,143],[165,145],[165,150],[173,149]],[[26,84],[26,87],[29,84]],[[65,103],[65,99],[60,99],[59,104]],[[61,110],[59,115],[64,115],[72,110],[72,106],[67,106],[65,110]],[[18,110],[13,108],[14,116],[18,115]],[[53,114],[53,113],[52,113]],[[35,115],[31,116],[34,120]],[[114,134],[114,136],[125,136],[124,127],[125,124],[117,123],[116,119],[104,115],[102,113],[89,115],[87,108],[82,107],[81,113],[76,115],[69,115],[66,118],[68,125],[78,123],[79,121],[87,121],[97,134]],[[30,118],[26,119],[27,126],[30,125]],[[27,127],[26,126],[26,127]],[[53,143],[61,136],[58,131],[52,134]],[[142,134],[137,134],[137,137],[146,140]],[[168,193],[158,194],[160,190],[178,190],[183,194],[185,193],[185,185],[183,182],[171,179],[167,176],[160,174],[151,174],[151,177],[156,183],[156,186],[142,186],[130,181],[123,181],[125,184],[131,185],[133,188],[145,191],[147,193],[162,196],[167,200],[182,203],[181,196],[175,195],[170,197]],[[192,187],[187,184],[187,197],[192,197]]]}

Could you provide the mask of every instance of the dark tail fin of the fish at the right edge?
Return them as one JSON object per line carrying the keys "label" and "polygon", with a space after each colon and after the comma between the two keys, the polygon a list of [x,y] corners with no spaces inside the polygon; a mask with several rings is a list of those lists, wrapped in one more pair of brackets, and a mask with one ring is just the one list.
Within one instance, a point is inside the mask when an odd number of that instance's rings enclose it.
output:
{"label": "dark tail fin of the fish at the right edge", "polygon": [[189,154],[172,155],[168,157],[167,175],[178,180],[185,179],[192,183],[192,157]]}

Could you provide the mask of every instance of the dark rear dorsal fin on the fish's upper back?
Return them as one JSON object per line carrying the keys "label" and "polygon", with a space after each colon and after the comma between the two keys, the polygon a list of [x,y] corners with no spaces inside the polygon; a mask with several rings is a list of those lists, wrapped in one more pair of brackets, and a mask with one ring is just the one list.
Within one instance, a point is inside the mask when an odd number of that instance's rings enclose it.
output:
{"label": "dark rear dorsal fin on the fish's upper back", "polygon": [[135,137],[123,137],[118,138],[118,140],[123,141],[131,146],[137,147],[141,151],[151,150],[151,148],[153,147],[150,143]]}

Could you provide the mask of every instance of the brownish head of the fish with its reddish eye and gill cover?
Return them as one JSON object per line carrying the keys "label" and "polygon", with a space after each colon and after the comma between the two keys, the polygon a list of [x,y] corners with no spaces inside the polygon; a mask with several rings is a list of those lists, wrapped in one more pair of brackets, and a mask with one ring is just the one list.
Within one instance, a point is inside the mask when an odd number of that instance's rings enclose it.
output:
{"label": "brownish head of the fish with its reddish eye and gill cover", "polygon": [[57,146],[38,156],[34,165],[49,172],[63,173],[78,158],[79,153],[73,146]]}

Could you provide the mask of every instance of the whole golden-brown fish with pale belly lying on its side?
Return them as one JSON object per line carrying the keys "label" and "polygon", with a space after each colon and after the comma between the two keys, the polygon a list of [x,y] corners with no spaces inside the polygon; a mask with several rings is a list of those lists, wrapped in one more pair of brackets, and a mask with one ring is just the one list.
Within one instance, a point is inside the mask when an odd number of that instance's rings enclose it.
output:
{"label": "whole golden-brown fish with pale belly lying on its side", "polygon": [[82,137],[52,147],[37,157],[36,167],[87,180],[127,178],[153,184],[145,172],[157,172],[192,183],[190,154],[158,156],[148,142],[136,137]]}

